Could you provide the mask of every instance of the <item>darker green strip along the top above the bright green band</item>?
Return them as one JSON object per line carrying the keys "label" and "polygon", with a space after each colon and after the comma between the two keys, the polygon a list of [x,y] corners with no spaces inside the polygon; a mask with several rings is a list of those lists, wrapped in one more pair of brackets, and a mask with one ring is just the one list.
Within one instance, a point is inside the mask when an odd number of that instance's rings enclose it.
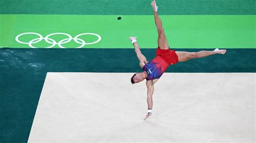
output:
{"label": "darker green strip along the top above the bright green band", "polygon": [[[160,15],[255,15],[254,0],[158,0]],[[0,14],[152,15],[150,0],[2,0]]]}

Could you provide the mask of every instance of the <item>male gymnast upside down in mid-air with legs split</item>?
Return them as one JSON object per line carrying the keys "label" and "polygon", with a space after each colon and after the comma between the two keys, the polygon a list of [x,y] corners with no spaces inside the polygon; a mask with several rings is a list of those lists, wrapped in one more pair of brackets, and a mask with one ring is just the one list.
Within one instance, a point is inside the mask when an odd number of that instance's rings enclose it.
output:
{"label": "male gymnast upside down in mid-air with legs split", "polygon": [[156,2],[151,3],[154,12],[154,21],[157,26],[158,32],[158,48],[156,52],[156,58],[151,61],[147,61],[145,56],[140,52],[139,45],[136,37],[129,37],[134,46],[137,58],[139,59],[139,66],[143,69],[142,73],[136,73],[131,77],[131,83],[139,83],[146,79],[147,87],[147,115],[144,118],[147,119],[152,115],[153,100],[152,95],[154,92],[154,84],[159,80],[161,75],[170,65],[174,65],[177,62],[184,62],[190,59],[204,58],[213,54],[225,54],[226,49],[215,49],[214,51],[199,51],[199,52],[177,52],[170,50],[170,46],[165,37],[164,28],[157,13]]}

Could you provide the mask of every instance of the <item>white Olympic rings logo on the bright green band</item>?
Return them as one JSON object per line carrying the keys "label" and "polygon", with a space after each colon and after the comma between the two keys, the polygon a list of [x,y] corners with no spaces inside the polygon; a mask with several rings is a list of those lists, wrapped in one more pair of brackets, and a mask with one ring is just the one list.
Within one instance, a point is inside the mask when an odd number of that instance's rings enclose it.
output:
{"label": "white Olympic rings logo on the bright green band", "polygon": [[[26,35],[26,34],[34,34],[34,35],[38,35],[39,38],[36,38],[36,39],[32,39],[30,40],[29,42],[22,42],[19,40],[19,37],[21,37],[22,35]],[[57,35],[57,34],[60,34],[60,35],[66,35],[68,36],[69,38],[66,38],[66,39],[63,39],[63,40],[60,40],[59,42],[56,42],[56,40],[53,40],[52,38],[49,38],[51,37],[52,35]],[[95,41],[95,42],[85,42],[83,39],[80,39],[78,37],[80,37],[81,35],[95,35],[98,40]],[[54,47],[55,45],[58,45],[60,48],[66,48],[66,47],[63,47],[62,44],[65,44],[67,42],[70,42],[71,40],[74,40],[75,42],[77,42],[78,44],[81,44],[81,46],[79,47],[76,47],[76,48],[82,48],[84,45],[91,45],[91,44],[96,44],[97,42],[99,42],[102,38],[100,37],[100,35],[98,34],[95,34],[95,33],[82,33],[82,34],[79,34],[79,35],[76,35],[75,38],[72,38],[70,34],[66,34],[66,33],[52,33],[52,34],[49,34],[49,35],[46,35],[45,38],[43,38],[43,36],[41,34],[38,34],[38,33],[35,33],[35,32],[26,32],[26,33],[22,33],[22,34],[19,34],[16,36],[15,40],[21,44],[28,44],[31,48],[38,48],[38,47],[34,47],[32,44],[36,44],[37,42],[40,42],[44,39],[44,41],[48,42],[49,44],[52,44],[51,46],[49,47],[45,47],[45,48],[52,48]]]}

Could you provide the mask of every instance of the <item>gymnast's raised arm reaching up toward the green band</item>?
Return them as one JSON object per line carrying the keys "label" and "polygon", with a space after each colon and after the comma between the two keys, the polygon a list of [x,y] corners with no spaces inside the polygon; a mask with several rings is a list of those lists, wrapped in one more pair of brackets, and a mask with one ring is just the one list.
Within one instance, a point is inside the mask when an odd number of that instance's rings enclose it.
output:
{"label": "gymnast's raised arm reaching up toward the green band", "polygon": [[137,58],[139,59],[139,66],[141,68],[143,68],[143,66],[147,63],[147,59],[146,57],[142,54],[142,52],[140,51],[139,45],[137,43],[136,40],[137,37],[129,37],[129,39],[132,41],[134,49],[135,49],[135,53],[137,55]]}

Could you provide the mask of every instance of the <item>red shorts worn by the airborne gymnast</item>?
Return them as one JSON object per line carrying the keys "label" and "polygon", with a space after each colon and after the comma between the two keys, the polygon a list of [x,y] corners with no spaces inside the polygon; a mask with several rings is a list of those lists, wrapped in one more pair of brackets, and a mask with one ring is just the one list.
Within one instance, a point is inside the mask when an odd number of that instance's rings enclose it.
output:
{"label": "red shorts worn by the airborne gymnast", "polygon": [[178,55],[175,53],[175,50],[170,50],[170,47],[169,49],[160,49],[158,47],[156,56],[160,56],[169,65],[174,65],[179,61]]}

